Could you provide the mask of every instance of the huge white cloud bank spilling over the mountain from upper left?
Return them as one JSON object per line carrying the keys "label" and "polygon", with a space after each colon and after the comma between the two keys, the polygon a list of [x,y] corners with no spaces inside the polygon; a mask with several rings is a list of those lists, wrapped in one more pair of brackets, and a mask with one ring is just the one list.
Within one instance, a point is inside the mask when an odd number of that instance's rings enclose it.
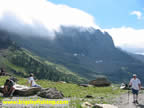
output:
{"label": "huge white cloud bank spilling over the mountain from upper left", "polygon": [[54,36],[60,26],[99,28],[93,16],[47,0],[0,0],[0,27],[12,32]]}

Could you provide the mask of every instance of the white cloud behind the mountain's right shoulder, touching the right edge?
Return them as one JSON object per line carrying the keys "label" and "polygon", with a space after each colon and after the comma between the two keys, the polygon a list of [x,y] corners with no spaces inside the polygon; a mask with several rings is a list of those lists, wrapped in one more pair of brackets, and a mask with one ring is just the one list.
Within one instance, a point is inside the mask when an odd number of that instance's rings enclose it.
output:
{"label": "white cloud behind the mountain's right shoulder, touching the right edge", "polygon": [[105,29],[119,47],[144,48],[144,29],[121,27]]}

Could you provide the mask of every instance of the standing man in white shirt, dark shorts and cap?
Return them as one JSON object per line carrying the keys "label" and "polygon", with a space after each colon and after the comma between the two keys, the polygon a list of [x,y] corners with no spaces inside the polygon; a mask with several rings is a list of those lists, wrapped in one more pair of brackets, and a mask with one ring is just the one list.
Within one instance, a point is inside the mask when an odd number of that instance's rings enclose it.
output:
{"label": "standing man in white shirt, dark shorts and cap", "polygon": [[133,74],[133,78],[130,80],[129,86],[132,88],[133,93],[133,103],[138,104],[138,94],[141,89],[141,82],[137,78],[136,74]]}

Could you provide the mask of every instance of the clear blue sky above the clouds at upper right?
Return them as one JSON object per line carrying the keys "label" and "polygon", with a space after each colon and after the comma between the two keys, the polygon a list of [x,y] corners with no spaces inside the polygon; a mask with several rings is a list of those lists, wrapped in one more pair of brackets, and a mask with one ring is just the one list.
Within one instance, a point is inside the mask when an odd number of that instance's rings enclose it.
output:
{"label": "clear blue sky above the clouds at upper right", "polygon": [[[65,4],[91,14],[101,28],[135,29],[144,28],[144,0],[48,0],[55,4]],[[131,15],[133,11],[142,13],[141,19]]]}

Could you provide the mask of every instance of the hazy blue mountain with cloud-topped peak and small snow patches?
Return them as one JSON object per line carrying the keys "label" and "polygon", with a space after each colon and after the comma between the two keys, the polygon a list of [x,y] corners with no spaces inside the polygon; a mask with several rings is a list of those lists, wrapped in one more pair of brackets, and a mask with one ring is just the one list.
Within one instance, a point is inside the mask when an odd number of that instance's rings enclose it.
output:
{"label": "hazy blue mountain with cloud-topped peak and small snow patches", "polygon": [[143,75],[144,63],[116,48],[111,36],[98,29],[62,26],[54,39],[10,35],[21,47],[89,80],[104,75],[119,83],[128,81],[133,73]]}

